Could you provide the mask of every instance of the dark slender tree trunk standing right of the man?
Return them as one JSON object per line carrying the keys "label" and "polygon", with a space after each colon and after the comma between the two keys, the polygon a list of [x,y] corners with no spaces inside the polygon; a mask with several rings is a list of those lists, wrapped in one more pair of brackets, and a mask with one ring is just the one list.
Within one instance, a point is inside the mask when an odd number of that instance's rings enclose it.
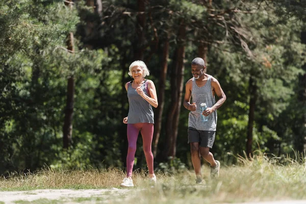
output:
{"label": "dark slender tree trunk standing right of the man", "polygon": [[247,125],[247,141],[246,141],[246,154],[247,157],[252,156],[252,142],[253,142],[253,123],[254,123],[254,113],[257,100],[257,85],[254,83],[252,78],[249,79],[249,91],[250,91],[250,101],[249,101],[249,119]]}

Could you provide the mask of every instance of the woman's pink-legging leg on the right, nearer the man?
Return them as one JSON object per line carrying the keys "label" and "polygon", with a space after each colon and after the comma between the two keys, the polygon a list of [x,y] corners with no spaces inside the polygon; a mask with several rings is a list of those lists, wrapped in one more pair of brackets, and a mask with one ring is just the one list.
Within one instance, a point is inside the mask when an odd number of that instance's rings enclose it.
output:
{"label": "woman's pink-legging leg on the right, nearer the man", "polygon": [[154,174],[153,154],[151,150],[153,131],[154,131],[153,123],[143,123],[141,128],[141,136],[142,136],[143,151],[149,169],[149,174]]}

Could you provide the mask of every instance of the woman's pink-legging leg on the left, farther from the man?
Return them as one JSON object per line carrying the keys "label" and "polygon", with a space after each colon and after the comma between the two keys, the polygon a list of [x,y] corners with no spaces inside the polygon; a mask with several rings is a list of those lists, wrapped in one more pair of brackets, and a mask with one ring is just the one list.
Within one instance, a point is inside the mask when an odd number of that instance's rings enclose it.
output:
{"label": "woman's pink-legging leg on the left, farther from the man", "polygon": [[139,123],[127,124],[127,141],[129,142],[129,149],[127,149],[126,156],[126,177],[132,177],[139,130]]}

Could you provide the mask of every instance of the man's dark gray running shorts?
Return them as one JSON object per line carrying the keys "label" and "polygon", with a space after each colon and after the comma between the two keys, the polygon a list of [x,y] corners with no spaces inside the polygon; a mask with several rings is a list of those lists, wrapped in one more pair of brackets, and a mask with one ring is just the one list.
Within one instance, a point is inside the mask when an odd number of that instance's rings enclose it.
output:
{"label": "man's dark gray running shorts", "polygon": [[188,127],[188,143],[199,142],[201,147],[212,148],[215,141],[216,131],[198,131]]}

